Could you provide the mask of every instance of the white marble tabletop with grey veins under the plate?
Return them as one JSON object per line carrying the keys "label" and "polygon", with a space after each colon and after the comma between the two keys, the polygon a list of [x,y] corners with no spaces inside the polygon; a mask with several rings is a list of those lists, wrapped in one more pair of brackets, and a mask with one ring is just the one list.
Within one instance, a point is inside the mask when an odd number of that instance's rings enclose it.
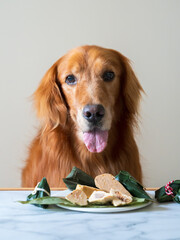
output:
{"label": "white marble tabletop with grey veins under the plate", "polygon": [[[84,213],[23,205],[28,191],[0,191],[0,239],[179,240],[180,205],[153,203],[121,213]],[[66,191],[52,192],[63,196]]]}

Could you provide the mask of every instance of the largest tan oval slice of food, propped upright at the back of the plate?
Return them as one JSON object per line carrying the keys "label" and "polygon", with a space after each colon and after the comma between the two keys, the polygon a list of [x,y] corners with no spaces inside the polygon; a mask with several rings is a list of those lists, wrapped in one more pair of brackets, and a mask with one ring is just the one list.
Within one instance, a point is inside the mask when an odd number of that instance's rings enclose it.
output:
{"label": "largest tan oval slice of food, propped upright at the back of the plate", "polygon": [[120,193],[131,197],[131,194],[125,189],[125,187],[109,173],[96,176],[94,181],[96,187],[103,191],[110,192],[111,189],[114,189],[116,192],[119,191]]}

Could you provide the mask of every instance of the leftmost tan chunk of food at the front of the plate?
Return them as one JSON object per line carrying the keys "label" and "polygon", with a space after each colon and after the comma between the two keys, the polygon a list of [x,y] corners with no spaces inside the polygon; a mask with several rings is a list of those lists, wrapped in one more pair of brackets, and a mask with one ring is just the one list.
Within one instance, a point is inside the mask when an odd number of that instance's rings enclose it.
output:
{"label": "leftmost tan chunk of food at the front of the plate", "polygon": [[66,196],[66,199],[68,201],[70,201],[73,204],[77,204],[79,206],[87,206],[88,202],[87,202],[87,196],[86,194],[79,189],[76,189],[74,191],[72,191],[71,193],[69,193]]}

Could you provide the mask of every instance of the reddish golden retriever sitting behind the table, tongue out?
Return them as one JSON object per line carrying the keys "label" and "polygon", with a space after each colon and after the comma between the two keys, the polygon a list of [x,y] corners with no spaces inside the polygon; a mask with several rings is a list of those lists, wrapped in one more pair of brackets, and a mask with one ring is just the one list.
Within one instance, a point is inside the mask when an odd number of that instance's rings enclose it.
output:
{"label": "reddish golden retriever sitting behind the table, tongue out", "polygon": [[119,52],[82,46],[61,57],[34,93],[41,128],[33,140],[22,186],[43,177],[51,187],[73,166],[95,177],[126,170],[142,181],[134,139],[143,89]]}

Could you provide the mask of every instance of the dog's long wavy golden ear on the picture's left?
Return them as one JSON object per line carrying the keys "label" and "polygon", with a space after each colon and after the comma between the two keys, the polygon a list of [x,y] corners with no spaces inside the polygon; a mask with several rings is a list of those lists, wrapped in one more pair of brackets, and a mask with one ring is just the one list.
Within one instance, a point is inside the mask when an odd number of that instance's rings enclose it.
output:
{"label": "dog's long wavy golden ear on the picture's left", "polygon": [[67,120],[67,107],[57,78],[59,63],[60,60],[46,72],[34,93],[37,115],[51,128],[65,126]]}

